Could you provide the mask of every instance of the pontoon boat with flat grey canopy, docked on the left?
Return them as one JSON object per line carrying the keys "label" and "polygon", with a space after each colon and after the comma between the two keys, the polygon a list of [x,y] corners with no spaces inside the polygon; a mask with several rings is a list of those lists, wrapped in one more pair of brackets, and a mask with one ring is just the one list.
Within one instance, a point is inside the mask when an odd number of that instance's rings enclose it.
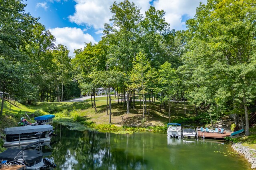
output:
{"label": "pontoon boat with flat grey canopy, docked on the left", "polygon": [[49,145],[53,131],[51,125],[4,128],[4,147],[24,148],[38,140],[44,140],[42,145]]}

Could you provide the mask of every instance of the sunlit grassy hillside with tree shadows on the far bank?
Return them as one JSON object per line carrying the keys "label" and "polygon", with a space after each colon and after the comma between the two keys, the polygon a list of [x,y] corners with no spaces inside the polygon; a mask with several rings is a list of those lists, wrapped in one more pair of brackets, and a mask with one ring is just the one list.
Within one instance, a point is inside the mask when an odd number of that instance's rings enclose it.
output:
{"label": "sunlit grassy hillside with tree shadows on the far bank", "polygon": [[[147,103],[147,109],[148,109]],[[174,121],[174,107],[176,108],[176,119],[180,119],[184,117],[184,105],[171,104],[171,121]],[[96,124],[107,124],[109,123],[109,111],[108,115],[106,112],[106,97],[98,97],[96,98],[96,108],[97,112],[95,113],[95,109],[92,108],[91,100],[88,99],[82,102],[38,102],[37,105],[25,106],[22,105],[21,109],[11,106],[11,112],[9,114],[9,103],[5,103],[3,115],[4,117],[16,117],[13,121],[16,121],[15,124],[2,124],[0,128],[12,127],[18,123],[20,117],[22,117],[25,112],[34,113],[36,110],[40,109],[41,113],[49,114],[54,113],[56,117],[64,117],[62,114],[64,110],[68,110],[68,112],[72,112],[76,110],[76,113],[79,114],[80,117],[83,117],[87,121],[92,121]],[[167,106],[166,106],[167,107]],[[187,117],[194,116],[194,107],[191,105],[186,105]],[[18,115],[21,110],[21,115]],[[126,114],[126,106],[117,103],[117,98],[112,97],[112,116],[111,123],[117,126],[127,125],[127,126],[140,126],[142,125],[142,107],[140,108],[140,101],[136,101],[136,108],[130,109],[130,114]],[[191,115],[189,115],[190,113]],[[123,116],[123,120],[122,120]],[[146,117],[146,126],[163,126],[168,123],[168,108],[166,110],[162,109],[162,113],[160,112],[160,103],[156,101],[156,105],[150,105],[150,113],[145,115]]]}

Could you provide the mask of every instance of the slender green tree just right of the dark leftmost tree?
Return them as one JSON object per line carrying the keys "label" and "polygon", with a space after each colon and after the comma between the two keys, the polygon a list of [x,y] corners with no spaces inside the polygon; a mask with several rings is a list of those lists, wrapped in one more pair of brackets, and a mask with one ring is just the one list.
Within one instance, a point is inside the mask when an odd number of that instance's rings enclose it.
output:
{"label": "slender green tree just right of the dark leftmost tree", "polygon": [[[26,50],[30,55],[30,82],[34,85],[34,89],[40,95],[40,100],[44,101],[48,93],[50,93],[50,82],[52,70],[52,53],[50,50],[54,48],[55,38],[46,30],[45,26],[36,23],[32,30],[32,39],[26,45]],[[31,93],[32,94],[32,93]],[[30,96],[27,101],[31,101],[36,96]],[[30,103],[30,102],[29,102]]]}

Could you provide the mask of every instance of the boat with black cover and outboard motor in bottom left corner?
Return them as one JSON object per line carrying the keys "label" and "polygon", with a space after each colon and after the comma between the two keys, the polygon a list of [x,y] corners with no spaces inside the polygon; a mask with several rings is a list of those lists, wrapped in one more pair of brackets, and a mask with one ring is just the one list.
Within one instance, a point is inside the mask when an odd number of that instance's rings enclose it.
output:
{"label": "boat with black cover and outboard motor in bottom left corner", "polygon": [[[26,170],[39,170],[41,168],[49,169],[55,168],[54,158],[43,158],[43,153],[41,152],[41,144],[44,140],[40,140],[29,144],[24,149],[12,149],[8,148],[4,152],[0,153],[2,163],[12,166],[12,165],[25,165]],[[30,146],[39,146],[39,150],[27,150]]]}

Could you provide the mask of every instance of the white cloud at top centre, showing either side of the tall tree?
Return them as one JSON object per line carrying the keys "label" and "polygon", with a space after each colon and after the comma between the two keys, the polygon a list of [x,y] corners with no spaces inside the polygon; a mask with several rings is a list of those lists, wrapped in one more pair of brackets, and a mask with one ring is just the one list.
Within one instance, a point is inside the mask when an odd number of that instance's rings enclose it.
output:
{"label": "white cloud at top centre, showing either side of the tall tree", "polygon": [[[78,25],[86,25],[94,29],[102,29],[104,23],[108,23],[112,14],[110,6],[114,0],[75,0],[76,12],[68,18],[71,22]],[[118,4],[122,0],[116,0]],[[142,8],[141,13],[144,14],[148,10],[150,0],[137,0],[134,2],[138,7]]]}

